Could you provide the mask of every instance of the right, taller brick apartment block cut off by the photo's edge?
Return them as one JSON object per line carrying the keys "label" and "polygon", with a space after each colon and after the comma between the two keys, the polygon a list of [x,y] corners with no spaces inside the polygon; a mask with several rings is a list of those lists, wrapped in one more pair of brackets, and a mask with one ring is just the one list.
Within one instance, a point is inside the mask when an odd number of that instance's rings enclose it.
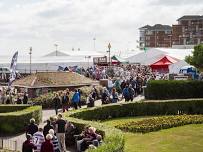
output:
{"label": "right, taller brick apartment block cut off by the photo's edge", "polygon": [[203,15],[187,15],[172,25],[172,45],[197,45],[203,43]]}

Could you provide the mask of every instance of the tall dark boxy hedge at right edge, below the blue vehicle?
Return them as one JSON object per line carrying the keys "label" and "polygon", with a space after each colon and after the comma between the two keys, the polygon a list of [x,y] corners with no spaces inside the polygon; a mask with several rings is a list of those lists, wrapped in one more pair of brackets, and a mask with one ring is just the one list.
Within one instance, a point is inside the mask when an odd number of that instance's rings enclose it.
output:
{"label": "tall dark boxy hedge at right edge, below the blue vehicle", "polygon": [[146,99],[203,98],[203,81],[149,81],[145,88]]}

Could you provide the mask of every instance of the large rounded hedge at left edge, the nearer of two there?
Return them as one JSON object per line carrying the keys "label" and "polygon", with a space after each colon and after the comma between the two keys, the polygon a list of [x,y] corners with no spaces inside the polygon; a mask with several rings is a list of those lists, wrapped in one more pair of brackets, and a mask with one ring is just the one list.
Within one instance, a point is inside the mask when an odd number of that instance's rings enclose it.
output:
{"label": "large rounded hedge at left edge, the nearer of two there", "polygon": [[[0,108],[3,107],[1,106]],[[35,118],[36,123],[41,122],[41,106],[27,107],[16,112],[0,113],[0,135],[13,135],[25,131],[25,127],[31,118]]]}

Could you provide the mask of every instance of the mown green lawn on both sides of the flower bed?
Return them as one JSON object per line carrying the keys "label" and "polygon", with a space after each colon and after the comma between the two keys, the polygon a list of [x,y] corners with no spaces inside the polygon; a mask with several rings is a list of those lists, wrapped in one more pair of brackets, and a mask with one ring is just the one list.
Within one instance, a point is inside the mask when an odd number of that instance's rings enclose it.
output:
{"label": "mown green lawn on both sides of the flower bed", "polygon": [[[146,117],[144,117],[146,118]],[[103,122],[115,126],[143,117],[128,117]],[[185,125],[146,134],[125,133],[126,152],[203,152],[203,124]]]}

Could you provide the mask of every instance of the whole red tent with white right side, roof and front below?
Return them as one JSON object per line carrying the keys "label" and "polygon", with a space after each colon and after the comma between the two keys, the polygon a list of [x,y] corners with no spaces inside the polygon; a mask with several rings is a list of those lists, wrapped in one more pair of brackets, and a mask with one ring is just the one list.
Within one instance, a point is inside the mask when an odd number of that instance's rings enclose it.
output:
{"label": "whole red tent with white right side, roof and front below", "polygon": [[171,57],[171,56],[164,56],[159,59],[157,62],[150,65],[152,71],[157,71],[160,73],[168,73],[169,72],[169,65],[178,62],[179,60]]}

